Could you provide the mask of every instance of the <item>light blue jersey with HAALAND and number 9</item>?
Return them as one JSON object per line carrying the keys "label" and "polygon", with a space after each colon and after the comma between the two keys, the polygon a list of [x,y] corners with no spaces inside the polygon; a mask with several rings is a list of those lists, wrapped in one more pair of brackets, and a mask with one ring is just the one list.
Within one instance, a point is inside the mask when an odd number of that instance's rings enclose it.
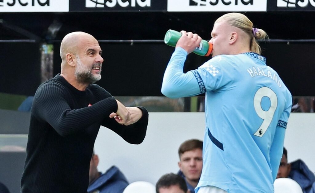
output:
{"label": "light blue jersey with HAALAND and number 9", "polygon": [[176,48],[162,93],[206,93],[203,169],[197,185],[227,192],[273,192],[292,97],[266,58],[253,52],[213,57],[183,73],[187,52]]}

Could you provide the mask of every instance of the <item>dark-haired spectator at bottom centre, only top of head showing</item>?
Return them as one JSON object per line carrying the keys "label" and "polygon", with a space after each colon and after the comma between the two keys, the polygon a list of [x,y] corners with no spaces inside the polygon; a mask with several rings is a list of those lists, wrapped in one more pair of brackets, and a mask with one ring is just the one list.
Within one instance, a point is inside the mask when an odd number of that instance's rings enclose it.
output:
{"label": "dark-haired spectator at bottom centre, only top of head showing", "polygon": [[189,193],[184,178],[174,173],[164,174],[155,186],[157,193]]}

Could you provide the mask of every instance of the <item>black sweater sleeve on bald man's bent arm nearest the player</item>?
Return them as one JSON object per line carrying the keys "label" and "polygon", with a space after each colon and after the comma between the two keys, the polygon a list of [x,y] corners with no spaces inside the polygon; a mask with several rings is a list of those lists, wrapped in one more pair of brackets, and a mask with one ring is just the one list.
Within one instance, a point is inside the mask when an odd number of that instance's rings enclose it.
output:
{"label": "black sweater sleeve on bald man's bent arm nearest the player", "polygon": [[117,133],[126,142],[140,144],[146,136],[149,113],[145,107],[137,107],[142,111],[142,117],[136,123],[126,126],[118,124],[113,118],[106,117],[104,118],[102,125]]}

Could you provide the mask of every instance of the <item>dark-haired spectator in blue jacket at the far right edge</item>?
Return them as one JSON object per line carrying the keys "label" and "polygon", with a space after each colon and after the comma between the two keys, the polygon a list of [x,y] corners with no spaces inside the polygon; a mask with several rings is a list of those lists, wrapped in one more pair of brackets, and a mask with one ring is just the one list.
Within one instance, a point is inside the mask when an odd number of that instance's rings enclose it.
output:
{"label": "dark-haired spectator in blue jacket at the far right edge", "polygon": [[[315,182],[314,173],[308,169],[302,160],[296,160],[288,163],[288,153],[286,148],[283,148],[283,155],[280,161],[277,178],[291,178],[295,180],[298,184],[300,184],[303,193],[312,192],[312,185]],[[313,191],[315,190],[314,188]]]}

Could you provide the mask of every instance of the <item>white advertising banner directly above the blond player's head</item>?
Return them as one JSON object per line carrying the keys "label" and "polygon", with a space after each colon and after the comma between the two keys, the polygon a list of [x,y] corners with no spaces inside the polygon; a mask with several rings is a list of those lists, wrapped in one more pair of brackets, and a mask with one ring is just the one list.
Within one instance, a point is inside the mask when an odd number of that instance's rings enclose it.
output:
{"label": "white advertising banner directly above the blond player's head", "polygon": [[267,11],[267,0],[168,0],[167,11]]}

